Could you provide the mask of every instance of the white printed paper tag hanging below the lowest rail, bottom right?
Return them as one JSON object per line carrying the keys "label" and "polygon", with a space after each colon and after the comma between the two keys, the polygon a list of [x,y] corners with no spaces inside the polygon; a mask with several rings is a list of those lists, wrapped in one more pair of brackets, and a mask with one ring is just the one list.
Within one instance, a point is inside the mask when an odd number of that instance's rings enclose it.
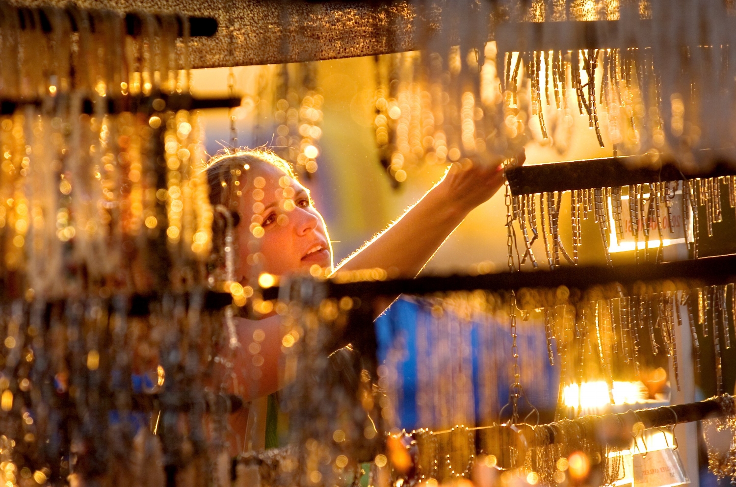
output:
{"label": "white printed paper tag hanging below the lowest rail, bottom right", "polygon": [[634,455],[634,487],[673,487],[690,483],[676,449]]}

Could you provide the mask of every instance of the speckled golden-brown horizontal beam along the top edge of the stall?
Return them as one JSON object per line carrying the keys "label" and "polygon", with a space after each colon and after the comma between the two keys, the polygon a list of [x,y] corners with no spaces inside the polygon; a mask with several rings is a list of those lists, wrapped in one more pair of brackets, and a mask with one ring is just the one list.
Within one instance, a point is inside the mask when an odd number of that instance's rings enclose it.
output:
{"label": "speckled golden-brown horizontal beam along the top edge of the stall", "polygon": [[[38,6],[33,0],[12,0],[10,4]],[[66,7],[70,2],[47,0],[44,4]],[[125,1],[77,0],[73,5],[130,15],[130,20],[126,19],[128,32],[138,32],[137,14],[127,12],[130,5]],[[637,31],[637,43],[644,47],[651,41],[644,42],[642,36],[653,37],[649,20],[584,21],[584,13],[572,11],[562,2],[547,4],[542,20],[548,21],[518,22],[525,16],[523,10],[530,8],[531,3],[520,2],[520,11],[513,12],[512,8],[509,15],[492,2],[473,5],[447,0],[164,0],[155,4],[157,11],[175,11],[191,19],[191,35],[201,40],[191,49],[194,68],[373,56],[416,50],[433,43],[470,46],[487,40],[497,40],[517,51],[517,47],[587,49],[609,47],[611,40],[626,39],[632,30]],[[550,21],[560,17],[567,21]],[[537,42],[520,40],[526,35]],[[482,57],[482,49],[480,54]]]}

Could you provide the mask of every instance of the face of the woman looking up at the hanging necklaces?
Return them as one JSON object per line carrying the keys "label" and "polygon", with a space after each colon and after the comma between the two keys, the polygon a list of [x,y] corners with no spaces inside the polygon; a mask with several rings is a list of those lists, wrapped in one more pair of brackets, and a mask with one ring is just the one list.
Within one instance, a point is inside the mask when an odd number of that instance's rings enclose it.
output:
{"label": "face of the woman looking up at the hanging necklaces", "polygon": [[332,248],[322,215],[309,192],[267,163],[251,164],[238,185],[236,279],[253,282],[256,272],[283,275],[332,268]]}

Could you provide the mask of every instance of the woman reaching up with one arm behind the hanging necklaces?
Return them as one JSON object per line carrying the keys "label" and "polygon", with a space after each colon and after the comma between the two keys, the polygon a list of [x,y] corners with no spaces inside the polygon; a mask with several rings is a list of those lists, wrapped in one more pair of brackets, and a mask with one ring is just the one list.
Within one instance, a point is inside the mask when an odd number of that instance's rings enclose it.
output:
{"label": "woman reaching up with one arm behind the hanging necklaces", "polygon": [[[517,163],[523,160],[522,152]],[[239,221],[232,249],[234,276],[230,278],[246,285],[256,282],[261,272],[294,274],[309,272],[314,266],[328,274],[380,268],[392,277],[416,277],[470,210],[498,191],[503,184],[500,163],[473,163],[469,159],[453,163],[403,216],[335,268],[325,221],[289,163],[265,150],[213,157],[207,168],[210,201],[221,210],[236,213]],[[217,240],[213,237],[215,243]],[[224,258],[220,261],[222,264]],[[272,313],[258,321],[236,319],[236,328],[241,344],[233,367],[236,394],[250,401],[277,391],[283,338],[280,316]],[[257,345],[251,346],[253,343]],[[236,432],[244,420],[236,419]],[[258,441],[244,444],[248,446],[258,448]]]}

